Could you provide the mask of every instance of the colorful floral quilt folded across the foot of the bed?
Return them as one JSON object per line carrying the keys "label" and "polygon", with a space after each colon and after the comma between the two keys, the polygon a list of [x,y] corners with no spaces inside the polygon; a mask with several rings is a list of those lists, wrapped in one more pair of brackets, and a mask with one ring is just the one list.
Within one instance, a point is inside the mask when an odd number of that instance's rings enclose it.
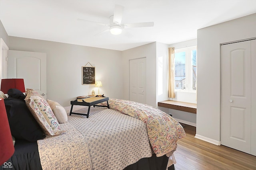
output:
{"label": "colorful floral quilt folded across the foot of the bed", "polygon": [[170,157],[185,131],[178,121],[155,107],[128,100],[110,99],[110,109],[130,115],[146,123],[148,139],[157,157]]}

